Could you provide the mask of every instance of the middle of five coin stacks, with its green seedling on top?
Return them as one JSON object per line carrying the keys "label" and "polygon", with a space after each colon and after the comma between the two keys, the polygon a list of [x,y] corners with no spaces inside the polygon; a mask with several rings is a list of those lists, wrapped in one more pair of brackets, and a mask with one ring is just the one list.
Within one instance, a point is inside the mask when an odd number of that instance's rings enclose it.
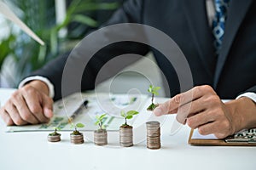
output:
{"label": "middle of five coin stacks, with its green seedling on top", "polygon": [[107,114],[102,114],[101,116],[96,116],[95,124],[98,126],[98,129],[94,131],[94,144],[96,145],[106,145],[108,144],[108,133],[106,126],[103,125],[103,119]]}

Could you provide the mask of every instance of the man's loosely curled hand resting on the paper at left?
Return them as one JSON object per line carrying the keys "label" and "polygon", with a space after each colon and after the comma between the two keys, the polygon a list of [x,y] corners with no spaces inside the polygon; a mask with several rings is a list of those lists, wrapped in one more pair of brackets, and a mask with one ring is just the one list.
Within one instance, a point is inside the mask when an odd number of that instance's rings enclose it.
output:
{"label": "man's loosely curled hand resting on the paper at left", "polygon": [[53,100],[44,82],[32,81],[15,91],[0,110],[7,125],[26,125],[49,122],[53,116]]}

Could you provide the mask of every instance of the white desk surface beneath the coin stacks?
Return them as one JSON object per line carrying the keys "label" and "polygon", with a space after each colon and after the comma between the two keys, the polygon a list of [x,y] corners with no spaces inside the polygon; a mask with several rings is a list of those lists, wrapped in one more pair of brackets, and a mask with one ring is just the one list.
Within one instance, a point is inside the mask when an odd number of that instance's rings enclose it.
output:
{"label": "white desk surface beneath the coin stacks", "polygon": [[[12,90],[0,89],[2,105],[11,93]],[[168,116],[161,127],[160,150],[148,150],[146,141],[121,148],[113,144],[117,141],[109,139],[116,132],[108,133],[108,146],[96,146],[86,139],[84,144],[70,144],[68,132],[61,132],[61,142],[49,143],[47,132],[5,133],[1,121],[0,169],[256,169],[256,147],[191,146],[187,143],[189,127],[183,126],[170,135],[173,118]]]}

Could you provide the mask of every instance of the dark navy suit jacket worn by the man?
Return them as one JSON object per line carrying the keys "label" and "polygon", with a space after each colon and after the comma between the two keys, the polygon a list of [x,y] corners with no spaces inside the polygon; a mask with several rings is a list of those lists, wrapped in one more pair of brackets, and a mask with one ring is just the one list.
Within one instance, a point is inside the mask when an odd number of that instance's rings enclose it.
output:
{"label": "dark navy suit jacket worn by the man", "polygon": [[[164,31],[177,42],[186,56],[194,86],[208,84],[222,99],[234,99],[243,92],[256,93],[256,1],[232,0],[228,9],[222,50],[216,56],[205,0],[129,0],[105,26],[140,23]],[[82,89],[95,87],[97,71],[120,54],[154,53],[170,86],[171,95],[180,93],[177,74],[156,49],[137,42],[119,42],[102,48],[86,66]],[[33,75],[48,77],[55,85],[55,99],[61,98],[61,74],[67,55],[45,65]],[[86,57],[86,54],[80,57]],[[72,82],[70,82],[72,87]],[[73,93],[76,89],[70,89]]]}

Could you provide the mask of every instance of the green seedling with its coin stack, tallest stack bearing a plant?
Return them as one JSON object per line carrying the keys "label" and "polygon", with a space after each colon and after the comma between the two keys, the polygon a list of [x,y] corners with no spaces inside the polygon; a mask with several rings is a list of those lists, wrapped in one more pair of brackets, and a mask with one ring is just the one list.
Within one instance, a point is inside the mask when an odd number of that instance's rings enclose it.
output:
{"label": "green seedling with its coin stack, tallest stack bearing a plant", "polygon": [[123,147],[133,145],[132,126],[127,124],[127,119],[132,119],[137,114],[139,114],[138,111],[121,111],[121,116],[125,118],[125,123],[119,127],[119,144]]}

